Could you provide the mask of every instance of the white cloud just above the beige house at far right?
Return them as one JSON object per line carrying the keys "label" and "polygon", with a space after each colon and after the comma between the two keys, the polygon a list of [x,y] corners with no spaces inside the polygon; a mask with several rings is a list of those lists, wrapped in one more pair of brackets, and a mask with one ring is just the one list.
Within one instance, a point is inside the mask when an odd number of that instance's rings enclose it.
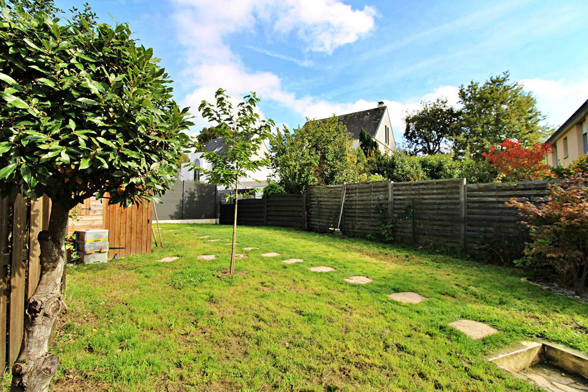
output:
{"label": "white cloud just above the beige house at far right", "polygon": [[519,81],[526,91],[537,98],[537,107],[547,116],[547,123],[559,127],[588,98],[588,81],[570,83],[544,79]]}

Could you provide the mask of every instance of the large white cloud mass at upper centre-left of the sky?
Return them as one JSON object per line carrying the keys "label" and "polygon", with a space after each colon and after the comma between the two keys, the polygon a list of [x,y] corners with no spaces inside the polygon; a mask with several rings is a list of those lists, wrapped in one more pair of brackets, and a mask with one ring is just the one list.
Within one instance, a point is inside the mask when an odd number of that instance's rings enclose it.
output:
{"label": "large white cloud mass at upper centre-left of the sky", "polygon": [[[329,110],[329,102],[312,97],[297,97],[286,91],[279,76],[272,72],[252,72],[230,49],[228,36],[253,31],[258,24],[274,32],[295,33],[305,51],[330,53],[338,46],[357,41],[374,28],[376,11],[362,11],[336,0],[175,0],[178,35],[186,48],[186,82],[196,89],[182,104],[197,108],[202,99],[211,100],[219,86],[230,96],[255,91],[263,99],[273,99],[296,112],[315,118]],[[295,59],[279,53],[289,61]],[[300,63],[308,65],[308,63]],[[333,112],[363,108],[362,102],[336,104]],[[360,110],[360,109],[358,109]],[[195,112],[195,110],[192,110]],[[329,113],[329,115],[332,113]],[[204,126],[202,119],[196,126]]]}

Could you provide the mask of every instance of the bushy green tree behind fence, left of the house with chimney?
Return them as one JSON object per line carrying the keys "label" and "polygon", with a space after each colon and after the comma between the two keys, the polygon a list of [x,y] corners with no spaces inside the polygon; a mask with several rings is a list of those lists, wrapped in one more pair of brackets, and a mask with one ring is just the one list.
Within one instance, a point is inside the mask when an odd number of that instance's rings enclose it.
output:
{"label": "bushy green tree behind fence, left of the house with chimney", "polygon": [[357,179],[357,155],[351,134],[335,116],[308,120],[292,132],[284,128],[269,139],[272,169],[288,193],[303,193],[309,185],[342,184]]}

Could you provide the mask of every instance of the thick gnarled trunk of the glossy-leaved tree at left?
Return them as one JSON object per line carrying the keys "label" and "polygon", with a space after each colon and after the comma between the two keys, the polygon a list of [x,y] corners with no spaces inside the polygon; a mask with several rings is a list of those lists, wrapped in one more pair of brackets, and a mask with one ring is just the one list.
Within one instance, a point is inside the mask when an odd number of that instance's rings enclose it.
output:
{"label": "thick gnarled trunk of the glossy-leaved tree at left", "polygon": [[25,331],[21,352],[12,366],[11,391],[45,392],[59,368],[59,359],[49,354],[52,327],[63,307],[61,278],[65,266],[65,235],[69,208],[52,200],[48,230],[39,233],[41,277],[25,309]]}

